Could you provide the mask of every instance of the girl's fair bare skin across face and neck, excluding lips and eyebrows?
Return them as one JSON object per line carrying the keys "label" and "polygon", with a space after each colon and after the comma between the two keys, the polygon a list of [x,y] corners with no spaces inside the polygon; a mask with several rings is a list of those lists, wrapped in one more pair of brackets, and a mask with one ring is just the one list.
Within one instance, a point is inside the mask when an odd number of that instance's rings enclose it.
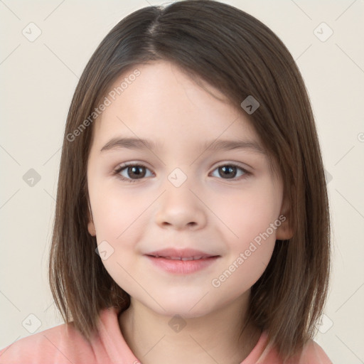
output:
{"label": "girl's fair bare skin across face and neck, excluding lips and eyebrows", "polygon": [[[102,262],[131,296],[129,309],[119,315],[120,329],[144,364],[240,363],[260,336],[248,324],[238,338],[250,287],[264,272],[275,240],[289,239],[288,221],[220,287],[211,282],[286,212],[282,181],[269,170],[267,154],[202,147],[215,139],[260,144],[244,110],[204,84],[223,101],[218,100],[167,61],[136,68],[141,75],[96,120],[87,164],[88,230],[97,244],[106,240],[114,249]],[[114,137],[152,139],[160,149],[100,152]],[[134,178],[132,183],[112,174],[126,162],[141,165],[144,178],[130,168],[119,175]],[[219,172],[219,166],[231,164],[250,173],[237,168],[229,178]],[[168,180],[175,168],[187,178],[179,187]],[[198,272],[176,275],[144,256],[166,247],[190,247],[220,257]],[[179,332],[168,325],[176,314],[183,318],[178,322],[186,323]]]}

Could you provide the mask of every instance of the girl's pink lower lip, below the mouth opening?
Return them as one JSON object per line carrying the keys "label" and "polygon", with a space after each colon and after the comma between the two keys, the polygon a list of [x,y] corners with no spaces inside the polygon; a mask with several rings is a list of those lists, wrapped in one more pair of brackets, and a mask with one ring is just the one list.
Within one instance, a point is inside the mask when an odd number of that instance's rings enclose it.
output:
{"label": "girl's pink lower lip, below the mouth opening", "polygon": [[216,257],[208,257],[197,260],[179,260],[179,259],[166,259],[162,257],[151,257],[151,255],[147,255],[146,257],[156,264],[157,267],[163,269],[168,273],[175,274],[190,274],[194,272],[198,272],[201,269],[204,269],[211,264],[213,264],[219,256]]}

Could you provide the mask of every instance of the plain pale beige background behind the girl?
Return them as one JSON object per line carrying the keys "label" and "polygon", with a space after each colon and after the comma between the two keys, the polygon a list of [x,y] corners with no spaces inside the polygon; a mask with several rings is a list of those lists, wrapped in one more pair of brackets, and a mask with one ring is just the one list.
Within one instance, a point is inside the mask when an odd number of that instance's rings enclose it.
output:
{"label": "plain pale beige background behind the girl", "polygon": [[[30,335],[28,330],[62,323],[46,263],[63,129],[78,78],[118,21],[165,2],[0,1],[0,348]],[[316,341],[333,363],[364,363],[364,1],[223,2],[272,28],[306,81],[333,225],[331,291]],[[22,33],[25,28],[30,36],[31,22],[36,24],[31,34],[41,29],[33,42]],[[329,28],[314,31],[322,22],[333,31],[326,41]],[[34,186],[23,179],[34,173],[31,168],[41,177]]]}

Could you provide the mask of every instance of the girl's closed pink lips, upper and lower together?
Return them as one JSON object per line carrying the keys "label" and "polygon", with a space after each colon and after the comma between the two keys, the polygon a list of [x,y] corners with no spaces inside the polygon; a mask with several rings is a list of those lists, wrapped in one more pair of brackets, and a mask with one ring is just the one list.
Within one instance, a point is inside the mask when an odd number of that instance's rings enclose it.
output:
{"label": "girl's closed pink lips, upper and lower together", "polygon": [[[158,256],[158,257],[157,257]],[[216,261],[219,255],[210,255],[200,250],[193,249],[164,249],[146,254],[146,257],[157,267],[168,273],[190,274],[208,267]],[[166,257],[198,257],[196,260],[167,259]]]}

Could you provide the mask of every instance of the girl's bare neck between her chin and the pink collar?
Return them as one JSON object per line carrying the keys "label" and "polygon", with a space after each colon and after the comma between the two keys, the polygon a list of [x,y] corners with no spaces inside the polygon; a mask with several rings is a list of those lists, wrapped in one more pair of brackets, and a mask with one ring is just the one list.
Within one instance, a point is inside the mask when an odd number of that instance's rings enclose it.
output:
{"label": "girl's bare neck between her chin and the pink collar", "polygon": [[131,299],[129,309],[119,315],[120,330],[143,364],[237,364],[260,336],[257,327],[245,324],[248,298],[245,294],[222,309],[189,319],[157,314]]}

